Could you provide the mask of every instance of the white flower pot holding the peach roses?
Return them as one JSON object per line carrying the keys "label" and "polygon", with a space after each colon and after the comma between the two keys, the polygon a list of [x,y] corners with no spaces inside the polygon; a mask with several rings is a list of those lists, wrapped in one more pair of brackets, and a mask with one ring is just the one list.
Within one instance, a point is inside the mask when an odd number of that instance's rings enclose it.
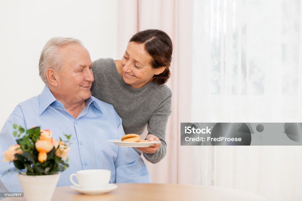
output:
{"label": "white flower pot holding the peach roses", "polygon": [[27,201],[50,201],[60,173],[37,176],[20,173],[17,176]]}

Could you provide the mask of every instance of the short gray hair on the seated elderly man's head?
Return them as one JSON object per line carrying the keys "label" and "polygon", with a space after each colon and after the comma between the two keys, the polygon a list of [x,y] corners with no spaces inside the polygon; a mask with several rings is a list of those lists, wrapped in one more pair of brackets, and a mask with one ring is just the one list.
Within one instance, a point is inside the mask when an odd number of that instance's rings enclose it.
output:
{"label": "short gray hair on the seated elderly man's head", "polygon": [[39,75],[45,84],[48,82],[46,77],[47,69],[52,68],[55,71],[62,69],[60,48],[69,44],[79,44],[83,46],[78,39],[54,37],[43,47],[39,61]]}

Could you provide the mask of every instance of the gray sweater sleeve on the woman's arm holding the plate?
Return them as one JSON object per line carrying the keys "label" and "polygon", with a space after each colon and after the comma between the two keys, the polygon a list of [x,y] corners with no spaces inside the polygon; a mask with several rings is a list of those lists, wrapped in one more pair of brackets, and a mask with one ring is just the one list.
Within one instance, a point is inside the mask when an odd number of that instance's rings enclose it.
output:
{"label": "gray sweater sleeve on the woman's arm holding the plate", "polygon": [[151,115],[149,119],[147,130],[148,134],[155,135],[162,142],[159,150],[153,154],[143,153],[147,161],[151,163],[158,163],[165,157],[167,152],[167,143],[166,143],[166,126],[168,118],[171,114],[171,104],[172,104],[172,91],[169,89],[166,94],[166,98],[162,103],[157,107],[155,112]]}

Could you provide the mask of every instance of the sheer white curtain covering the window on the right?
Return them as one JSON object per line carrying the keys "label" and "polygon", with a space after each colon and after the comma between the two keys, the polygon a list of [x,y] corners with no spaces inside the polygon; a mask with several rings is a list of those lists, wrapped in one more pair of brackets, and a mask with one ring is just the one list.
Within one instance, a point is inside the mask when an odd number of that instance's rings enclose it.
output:
{"label": "sheer white curtain covering the window on the right", "polygon": [[[194,0],[192,122],[301,122],[300,0]],[[194,148],[195,184],[301,200],[302,147]]]}

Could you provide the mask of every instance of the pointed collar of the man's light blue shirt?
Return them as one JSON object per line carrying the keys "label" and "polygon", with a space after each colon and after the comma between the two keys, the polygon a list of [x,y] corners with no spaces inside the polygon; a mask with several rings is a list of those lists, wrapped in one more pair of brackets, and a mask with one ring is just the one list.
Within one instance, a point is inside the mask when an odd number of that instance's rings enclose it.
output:
{"label": "pointed collar of the man's light blue shirt", "polygon": [[[95,101],[95,99],[96,99],[95,97],[90,96],[85,101],[86,107],[88,108],[89,105],[92,103],[92,105],[102,113],[101,108],[98,105],[97,101]],[[57,101],[56,98],[53,96],[48,86],[45,85],[39,97],[39,102],[40,102],[39,116],[41,116],[41,114],[47,109],[47,107],[50,106],[55,101]]]}

